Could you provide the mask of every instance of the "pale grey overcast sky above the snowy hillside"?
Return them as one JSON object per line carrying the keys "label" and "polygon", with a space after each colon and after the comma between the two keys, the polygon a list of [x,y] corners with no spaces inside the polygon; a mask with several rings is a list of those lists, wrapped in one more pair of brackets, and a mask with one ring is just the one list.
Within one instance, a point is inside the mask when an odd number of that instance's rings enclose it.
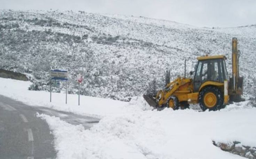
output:
{"label": "pale grey overcast sky above the snowy hillside", "polygon": [[82,10],[166,19],[200,27],[256,24],[256,0],[0,0],[0,9]]}

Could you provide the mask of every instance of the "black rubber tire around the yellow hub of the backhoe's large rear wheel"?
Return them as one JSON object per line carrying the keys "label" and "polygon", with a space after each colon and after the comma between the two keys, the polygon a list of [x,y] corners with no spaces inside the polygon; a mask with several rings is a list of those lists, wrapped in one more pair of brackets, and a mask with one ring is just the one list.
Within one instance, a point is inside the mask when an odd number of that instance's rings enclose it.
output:
{"label": "black rubber tire around the yellow hub of the backhoe's large rear wheel", "polygon": [[[217,98],[217,102],[213,107],[207,107],[207,105],[204,103],[204,96],[209,92],[213,93]],[[206,109],[209,109],[209,111],[217,111],[223,108],[223,104],[224,104],[223,93],[217,87],[214,87],[214,86],[207,86],[203,88],[203,90],[201,90],[199,93],[198,100],[199,100],[199,105],[203,111],[205,111]]]}

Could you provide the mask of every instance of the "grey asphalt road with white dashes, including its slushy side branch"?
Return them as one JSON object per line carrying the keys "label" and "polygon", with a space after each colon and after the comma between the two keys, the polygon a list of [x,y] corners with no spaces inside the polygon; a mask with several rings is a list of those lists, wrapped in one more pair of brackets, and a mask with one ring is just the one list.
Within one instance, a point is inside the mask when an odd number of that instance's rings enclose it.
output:
{"label": "grey asphalt road with white dashes, including its slushy side branch", "polygon": [[0,95],[0,159],[56,158],[54,136],[48,124],[36,113],[58,116],[85,129],[100,119],[56,111],[46,107],[32,107]]}

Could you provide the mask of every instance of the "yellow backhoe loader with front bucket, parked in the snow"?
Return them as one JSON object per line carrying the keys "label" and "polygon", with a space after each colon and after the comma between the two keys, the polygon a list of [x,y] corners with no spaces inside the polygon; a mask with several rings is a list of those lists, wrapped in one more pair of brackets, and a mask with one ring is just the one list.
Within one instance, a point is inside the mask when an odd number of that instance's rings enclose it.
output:
{"label": "yellow backhoe loader with front bucket, parked in the snow", "polygon": [[224,55],[201,56],[193,78],[179,77],[168,83],[166,87],[154,96],[143,95],[150,106],[155,108],[170,107],[184,109],[189,104],[199,103],[203,111],[216,111],[228,105],[231,101],[242,101],[243,77],[239,77],[240,51],[238,40],[232,38],[232,77],[228,79],[226,57]]}

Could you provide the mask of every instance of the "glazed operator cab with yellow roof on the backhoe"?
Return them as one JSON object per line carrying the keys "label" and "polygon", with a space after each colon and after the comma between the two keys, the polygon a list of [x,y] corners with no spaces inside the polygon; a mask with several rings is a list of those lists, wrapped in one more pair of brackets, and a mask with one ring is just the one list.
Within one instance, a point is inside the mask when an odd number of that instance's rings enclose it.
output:
{"label": "glazed operator cab with yellow roof on the backhoe", "polygon": [[193,79],[194,92],[198,92],[204,82],[224,83],[224,80],[227,80],[226,57],[224,55],[202,56],[198,57],[197,60]]}

